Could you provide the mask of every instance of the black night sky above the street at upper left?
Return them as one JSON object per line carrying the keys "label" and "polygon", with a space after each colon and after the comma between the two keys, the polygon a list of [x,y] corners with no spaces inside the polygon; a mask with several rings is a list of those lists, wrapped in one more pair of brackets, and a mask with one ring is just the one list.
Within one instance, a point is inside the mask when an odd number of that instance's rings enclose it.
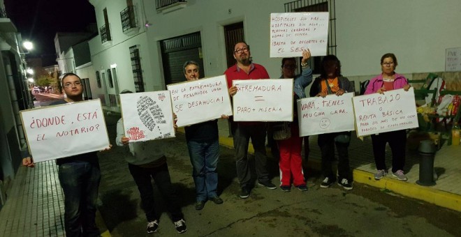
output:
{"label": "black night sky above the street at upper left", "polygon": [[34,43],[31,56],[42,57],[43,66],[56,63],[57,32],[85,31],[96,22],[88,0],[4,0],[8,17],[23,40]]}

